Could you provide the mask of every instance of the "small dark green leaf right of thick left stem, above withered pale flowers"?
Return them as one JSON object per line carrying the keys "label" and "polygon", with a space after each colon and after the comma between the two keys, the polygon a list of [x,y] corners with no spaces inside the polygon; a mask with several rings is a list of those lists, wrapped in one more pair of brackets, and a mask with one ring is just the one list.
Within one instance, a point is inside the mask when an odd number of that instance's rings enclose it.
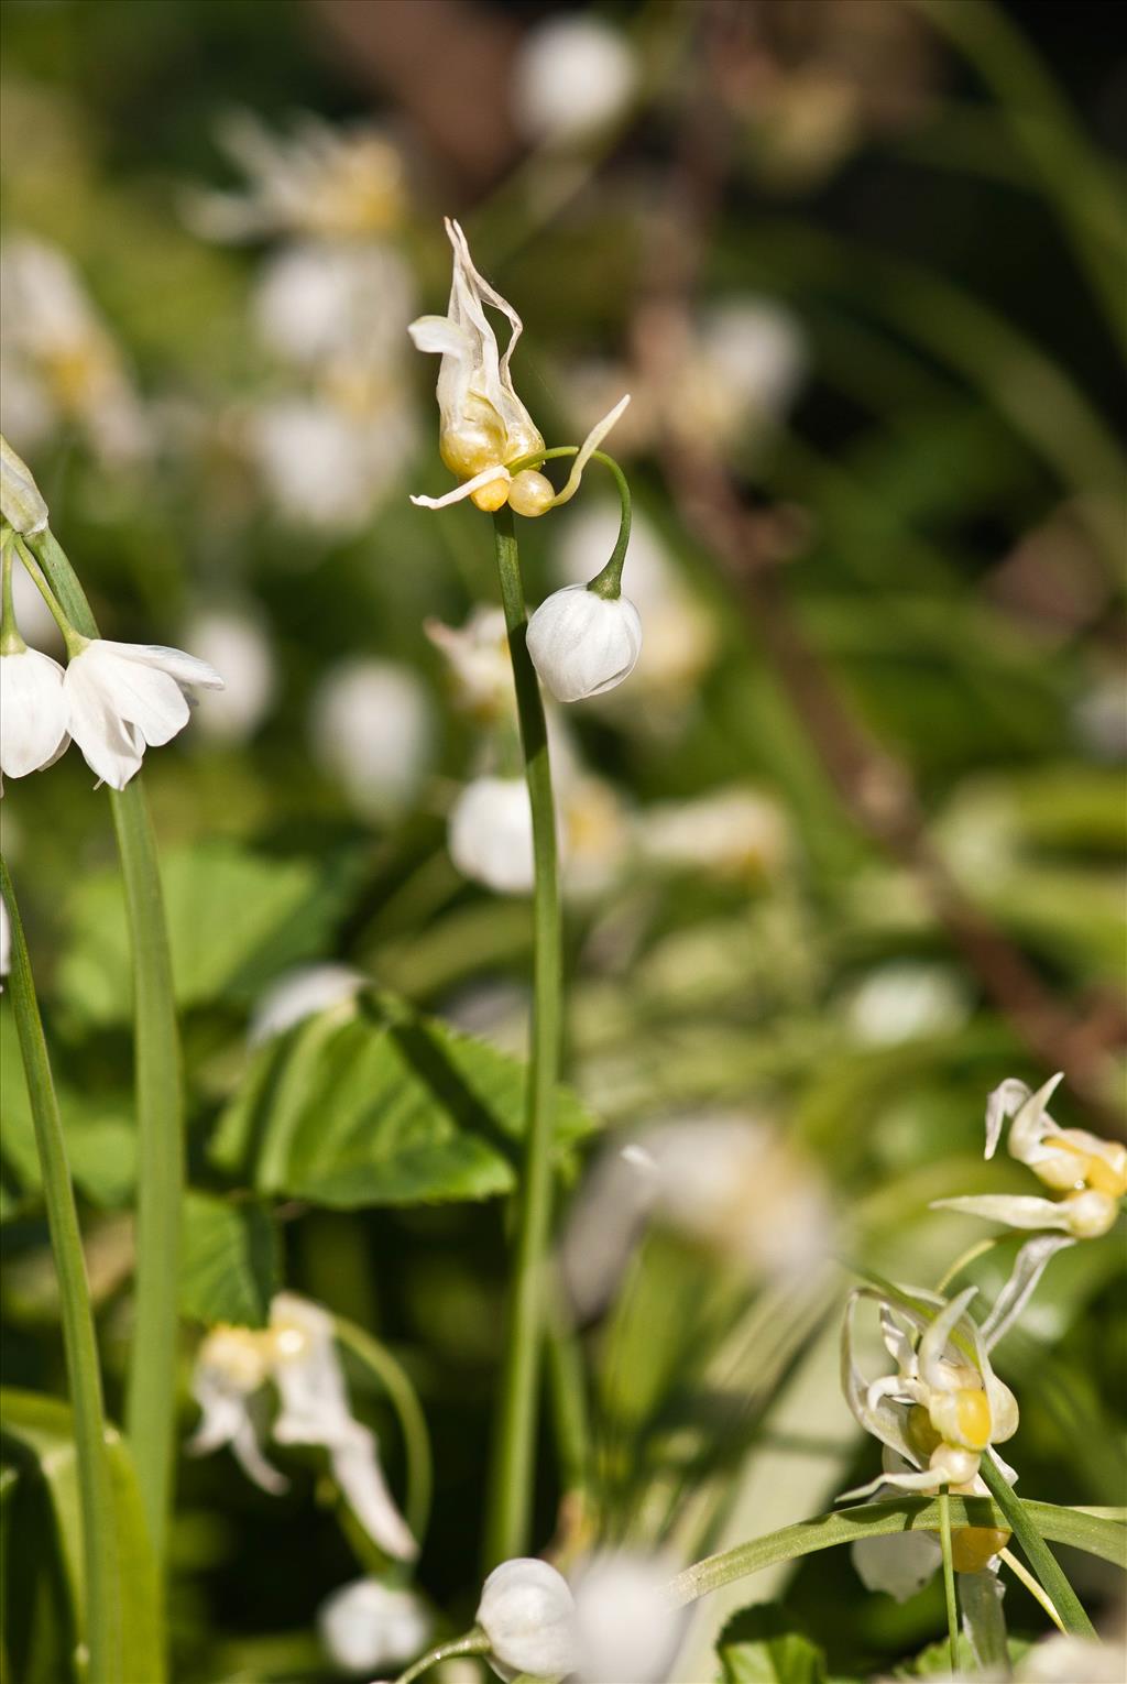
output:
{"label": "small dark green leaf right of thick left stem, above withered pale flowers", "polygon": [[207,1325],[264,1327],[280,1287],[278,1233],[268,1211],[189,1192],[180,1248],[184,1315]]}

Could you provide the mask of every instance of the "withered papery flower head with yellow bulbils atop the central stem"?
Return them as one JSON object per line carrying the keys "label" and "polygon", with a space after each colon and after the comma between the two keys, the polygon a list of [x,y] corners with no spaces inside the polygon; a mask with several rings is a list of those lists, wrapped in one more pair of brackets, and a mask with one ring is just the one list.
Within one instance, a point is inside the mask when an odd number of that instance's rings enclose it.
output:
{"label": "withered papery flower head with yellow bulbils atop the central stem", "polygon": [[[445,317],[419,317],[409,327],[418,350],[441,357],[438,369],[438,450],[441,460],[463,483],[445,497],[413,497],[423,509],[445,509],[472,497],[478,509],[500,509],[510,502],[517,514],[544,514],[574,497],[583,470],[612,429],[628,397],[603,416],[583,441],[561,492],[532,468],[515,477],[509,465],[544,448],[544,438],[517,397],[509,364],[524,332],[512,305],[478,274],[465,234],[446,217],[453,246],[453,285]],[[485,305],[509,322],[505,350],[499,350]]]}

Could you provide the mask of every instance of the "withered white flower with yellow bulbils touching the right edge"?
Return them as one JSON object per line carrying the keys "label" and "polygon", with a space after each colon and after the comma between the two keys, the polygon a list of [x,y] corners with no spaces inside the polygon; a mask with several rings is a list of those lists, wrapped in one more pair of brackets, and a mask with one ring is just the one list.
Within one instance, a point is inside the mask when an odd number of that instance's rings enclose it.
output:
{"label": "withered white flower with yellow bulbils touching the right edge", "polygon": [[1009,1228],[1058,1229],[1073,1239],[1097,1239],[1108,1233],[1119,1218],[1120,1199],[1127,1196],[1127,1147],[1119,1140],[1102,1140],[1087,1128],[1055,1123],[1046,1106],[1060,1081],[1061,1074],[1056,1074],[1033,1093],[1024,1081],[1011,1078],[994,1090],[985,1108],[985,1157],[994,1157],[1002,1127],[1012,1116],[1009,1155],[1063,1197],[982,1194],[937,1199],[932,1209],[985,1216]]}

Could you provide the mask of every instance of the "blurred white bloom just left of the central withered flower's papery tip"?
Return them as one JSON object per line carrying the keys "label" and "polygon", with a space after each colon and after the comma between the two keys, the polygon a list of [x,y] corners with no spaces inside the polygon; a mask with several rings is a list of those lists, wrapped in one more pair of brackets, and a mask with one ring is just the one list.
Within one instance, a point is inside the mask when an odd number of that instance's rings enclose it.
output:
{"label": "blurred white bloom just left of the central withered flower's papery tip", "polygon": [[302,241],[266,261],[253,312],[286,362],[318,370],[347,359],[387,374],[404,360],[414,278],[393,246]]}

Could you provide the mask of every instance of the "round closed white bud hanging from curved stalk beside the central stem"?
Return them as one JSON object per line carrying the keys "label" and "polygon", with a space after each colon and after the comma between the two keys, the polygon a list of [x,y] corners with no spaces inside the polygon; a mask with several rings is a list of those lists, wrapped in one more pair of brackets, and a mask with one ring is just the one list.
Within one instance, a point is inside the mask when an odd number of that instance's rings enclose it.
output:
{"label": "round closed white bud hanging from curved stalk beside the central stem", "polygon": [[630,677],[642,653],[642,620],[627,596],[566,584],[529,620],[527,647],[556,701],[580,702]]}

